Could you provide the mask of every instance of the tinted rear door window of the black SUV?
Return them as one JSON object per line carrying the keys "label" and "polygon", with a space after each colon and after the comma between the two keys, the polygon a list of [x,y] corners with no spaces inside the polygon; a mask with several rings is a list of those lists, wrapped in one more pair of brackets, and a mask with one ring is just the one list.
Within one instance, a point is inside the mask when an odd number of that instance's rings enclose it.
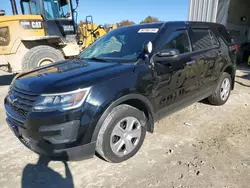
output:
{"label": "tinted rear door window of the black SUV", "polygon": [[194,50],[205,50],[219,45],[210,29],[192,29],[194,37]]}

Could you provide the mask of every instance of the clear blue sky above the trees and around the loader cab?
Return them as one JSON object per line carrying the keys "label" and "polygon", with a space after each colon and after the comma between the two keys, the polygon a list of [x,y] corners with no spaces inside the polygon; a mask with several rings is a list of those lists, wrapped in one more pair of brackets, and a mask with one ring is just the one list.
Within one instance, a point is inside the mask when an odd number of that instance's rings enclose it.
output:
{"label": "clear blue sky above the trees and around the loader cab", "polygon": [[[0,6],[6,14],[12,14],[9,0]],[[75,2],[75,0],[72,0]],[[16,0],[20,12],[19,0]],[[147,16],[161,21],[188,19],[189,0],[80,0],[78,22],[92,15],[94,23],[113,24],[122,20],[139,23]]]}

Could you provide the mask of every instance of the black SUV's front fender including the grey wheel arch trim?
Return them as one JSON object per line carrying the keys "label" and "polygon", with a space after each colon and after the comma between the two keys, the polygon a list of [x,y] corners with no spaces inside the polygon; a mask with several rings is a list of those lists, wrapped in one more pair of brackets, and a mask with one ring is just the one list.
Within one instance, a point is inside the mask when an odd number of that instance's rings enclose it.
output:
{"label": "black SUV's front fender including the grey wheel arch trim", "polygon": [[[126,80],[126,81],[124,81]],[[106,119],[111,110],[125,101],[131,99],[140,100],[152,116],[154,109],[148,99],[141,92],[137,91],[138,88],[138,75],[134,72],[125,73],[117,78],[110,79],[102,84],[95,85],[90,92],[87,99],[86,111],[89,113],[90,126],[85,134],[88,139],[91,135],[91,141],[96,141],[99,130],[103,121]],[[153,117],[153,116],[152,116]],[[153,121],[153,118],[150,118]],[[149,123],[153,126],[153,123]],[[152,132],[153,127],[150,127]]]}

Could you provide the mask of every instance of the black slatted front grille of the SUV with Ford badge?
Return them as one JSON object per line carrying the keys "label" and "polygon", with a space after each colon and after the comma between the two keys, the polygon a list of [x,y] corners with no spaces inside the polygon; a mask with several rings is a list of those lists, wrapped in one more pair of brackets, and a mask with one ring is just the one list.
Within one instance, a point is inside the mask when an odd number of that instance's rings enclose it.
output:
{"label": "black slatted front grille of the SUV with Ford badge", "polygon": [[11,87],[8,95],[11,100],[9,102],[11,109],[23,118],[26,118],[28,113],[31,112],[32,106],[38,97],[36,93],[29,93],[16,87]]}

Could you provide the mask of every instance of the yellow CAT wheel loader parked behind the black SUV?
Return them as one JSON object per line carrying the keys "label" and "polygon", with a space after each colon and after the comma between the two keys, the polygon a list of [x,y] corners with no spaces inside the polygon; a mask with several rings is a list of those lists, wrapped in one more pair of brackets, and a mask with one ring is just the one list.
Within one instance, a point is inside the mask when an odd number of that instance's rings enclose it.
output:
{"label": "yellow CAT wheel loader parked behind the black SUV", "polygon": [[[76,24],[72,0],[10,0],[13,15],[0,11],[0,69],[19,72],[78,55],[107,31],[88,16]],[[113,28],[116,28],[114,25]]]}

